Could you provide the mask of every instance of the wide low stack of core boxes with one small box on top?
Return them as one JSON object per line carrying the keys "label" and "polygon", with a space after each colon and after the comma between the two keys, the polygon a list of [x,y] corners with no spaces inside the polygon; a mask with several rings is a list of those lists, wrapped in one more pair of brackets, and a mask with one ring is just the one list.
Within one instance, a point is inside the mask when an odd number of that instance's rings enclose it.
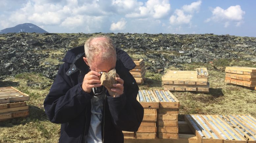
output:
{"label": "wide low stack of core boxes with one small box on top", "polygon": [[164,90],[209,92],[208,71],[197,68],[196,71],[168,71],[162,76]]}

